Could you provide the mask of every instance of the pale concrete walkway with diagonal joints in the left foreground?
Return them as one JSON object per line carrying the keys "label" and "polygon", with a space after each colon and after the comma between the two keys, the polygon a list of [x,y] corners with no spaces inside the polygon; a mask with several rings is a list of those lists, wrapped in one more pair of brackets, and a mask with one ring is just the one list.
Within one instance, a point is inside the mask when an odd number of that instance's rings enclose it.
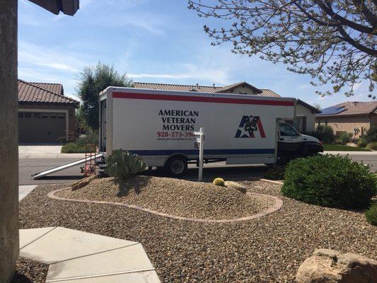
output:
{"label": "pale concrete walkway with diagonal joints in the left foreground", "polygon": [[20,256],[50,264],[46,282],[160,282],[140,243],[64,227],[21,229]]}

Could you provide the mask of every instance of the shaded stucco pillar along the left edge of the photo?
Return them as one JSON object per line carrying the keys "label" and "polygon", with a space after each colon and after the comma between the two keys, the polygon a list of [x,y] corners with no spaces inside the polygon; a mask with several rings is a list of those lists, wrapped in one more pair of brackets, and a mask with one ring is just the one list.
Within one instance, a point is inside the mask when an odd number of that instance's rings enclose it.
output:
{"label": "shaded stucco pillar along the left edge of the photo", "polygon": [[17,1],[0,0],[0,282],[18,258]]}

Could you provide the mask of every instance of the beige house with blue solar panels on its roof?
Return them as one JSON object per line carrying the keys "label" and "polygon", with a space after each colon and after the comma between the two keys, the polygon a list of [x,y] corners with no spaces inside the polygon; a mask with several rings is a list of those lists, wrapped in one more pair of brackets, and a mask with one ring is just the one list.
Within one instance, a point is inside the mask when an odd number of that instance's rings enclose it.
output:
{"label": "beige house with blue solar panels on its roof", "polygon": [[347,132],[360,137],[377,126],[377,101],[353,101],[325,108],[316,115],[315,123],[331,126],[335,134]]}

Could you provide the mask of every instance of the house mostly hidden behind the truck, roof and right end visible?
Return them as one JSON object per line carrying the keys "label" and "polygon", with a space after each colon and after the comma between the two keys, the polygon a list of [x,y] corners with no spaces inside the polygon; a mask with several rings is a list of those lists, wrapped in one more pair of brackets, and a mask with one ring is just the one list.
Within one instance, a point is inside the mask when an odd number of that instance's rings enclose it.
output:
{"label": "house mostly hidden behind the truck, roof and right end visible", "polygon": [[[269,89],[255,88],[255,86],[241,81],[240,83],[233,83],[229,86],[199,86],[196,85],[181,85],[168,83],[141,83],[134,82],[135,88],[156,89],[161,91],[197,91],[199,93],[235,93],[248,94],[255,96],[269,96],[280,97],[279,94],[274,93]],[[299,132],[313,132],[315,127],[315,114],[320,110],[314,108],[302,100],[297,100],[296,105],[296,120],[292,123]]]}

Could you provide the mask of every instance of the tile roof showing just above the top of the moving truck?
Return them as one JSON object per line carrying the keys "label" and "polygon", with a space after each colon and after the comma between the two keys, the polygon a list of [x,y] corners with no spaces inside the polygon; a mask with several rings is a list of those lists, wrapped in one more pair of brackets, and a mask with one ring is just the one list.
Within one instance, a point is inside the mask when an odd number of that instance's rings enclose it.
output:
{"label": "tile roof showing just above the top of the moving truck", "polygon": [[237,86],[242,86],[246,84],[250,88],[255,89],[258,93],[258,96],[271,96],[271,97],[280,97],[279,94],[270,91],[269,89],[259,89],[251,86],[249,83],[242,81],[240,83],[233,83],[229,86],[199,86],[199,85],[185,85],[185,84],[170,84],[170,83],[141,83],[134,82],[135,88],[145,88],[145,89],[156,89],[159,91],[197,91],[199,93],[225,93],[226,91],[236,88]]}

